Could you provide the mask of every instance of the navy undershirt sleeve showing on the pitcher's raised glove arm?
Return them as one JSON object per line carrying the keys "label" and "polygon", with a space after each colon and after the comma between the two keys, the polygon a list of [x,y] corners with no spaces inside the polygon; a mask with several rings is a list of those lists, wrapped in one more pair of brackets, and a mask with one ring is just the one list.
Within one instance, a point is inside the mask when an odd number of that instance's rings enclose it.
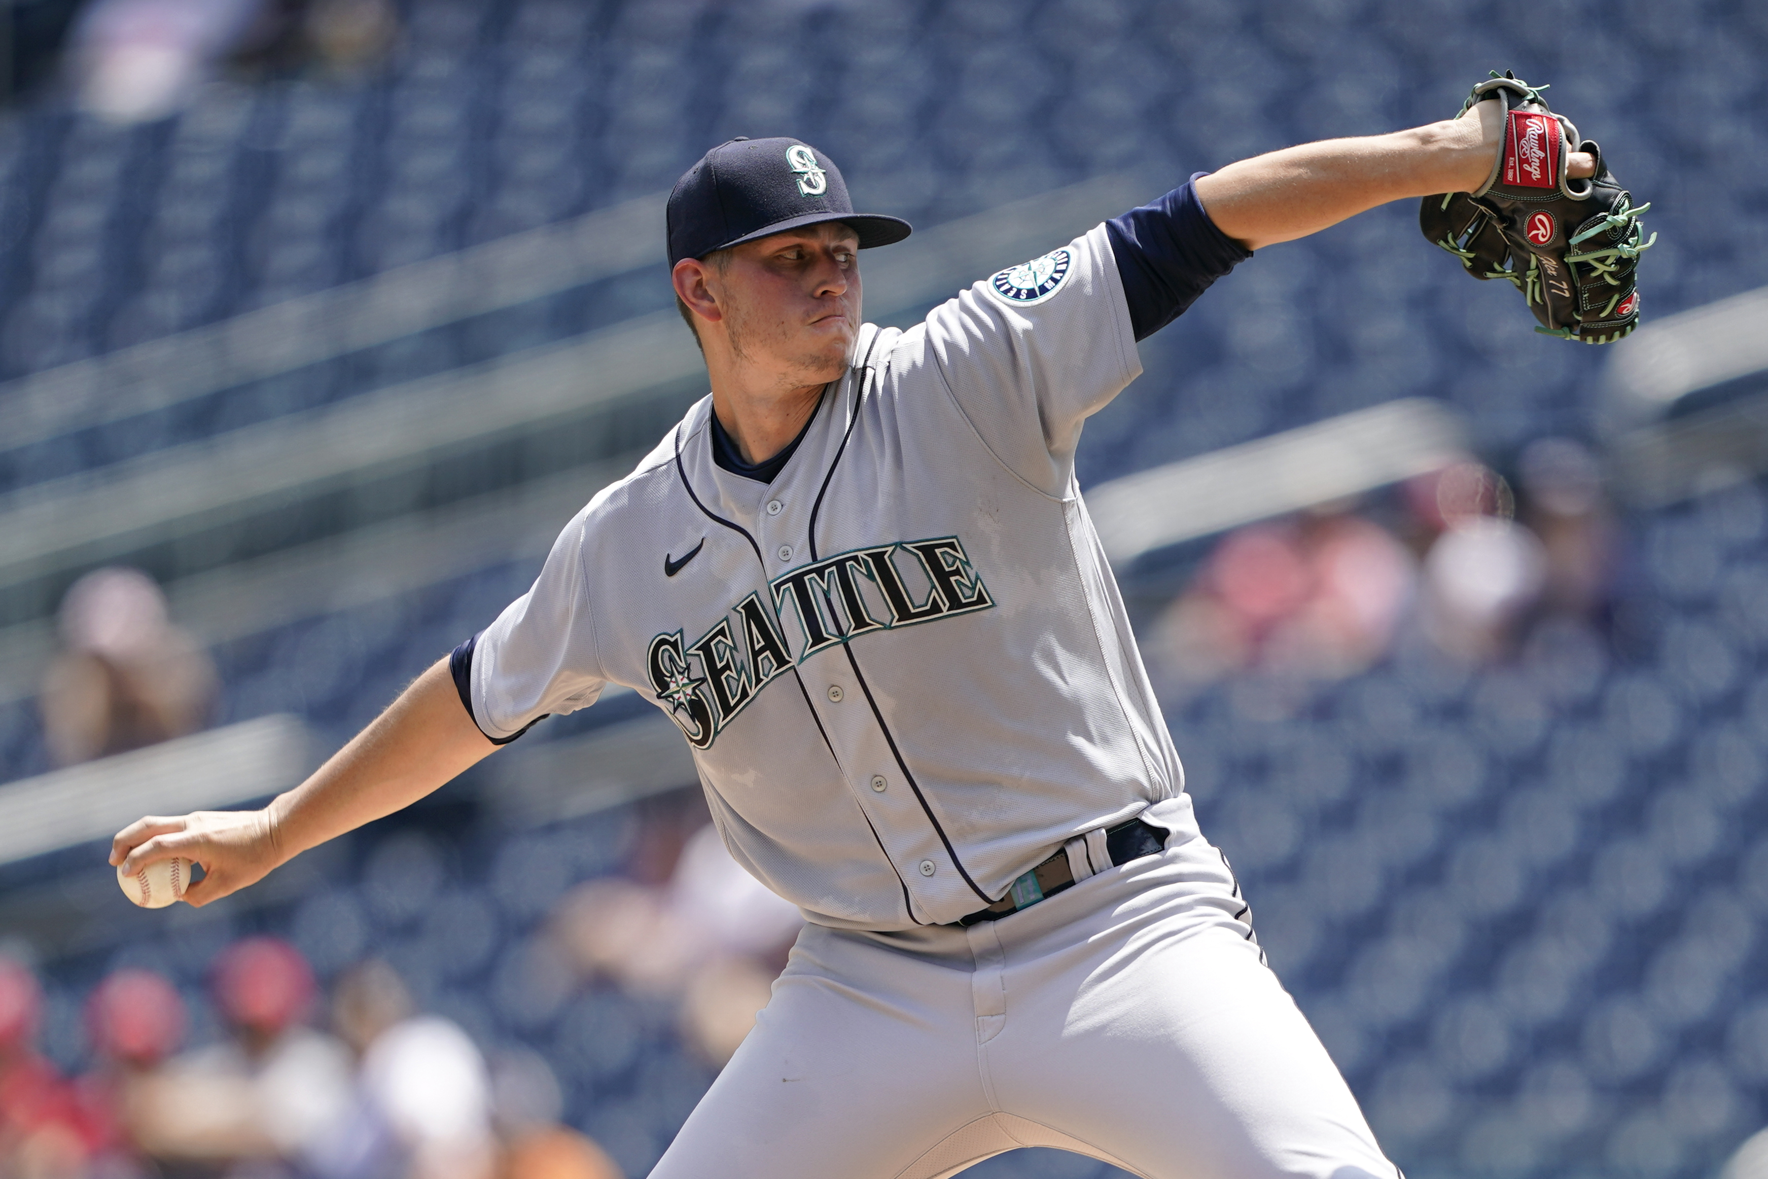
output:
{"label": "navy undershirt sleeve showing on the pitcher's raised glove arm", "polygon": [[1252,256],[1197,200],[1197,177],[1206,175],[1199,171],[1155,203],[1105,223],[1137,339],[1179,318],[1211,283]]}

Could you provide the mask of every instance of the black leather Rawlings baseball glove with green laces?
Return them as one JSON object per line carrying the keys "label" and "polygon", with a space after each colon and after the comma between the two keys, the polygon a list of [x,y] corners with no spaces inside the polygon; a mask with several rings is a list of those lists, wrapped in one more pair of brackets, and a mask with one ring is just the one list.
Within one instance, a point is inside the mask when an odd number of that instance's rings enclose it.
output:
{"label": "black leather Rawlings baseball glove with green laces", "polygon": [[[1522,292],[1542,323],[1535,331],[1605,345],[1639,327],[1634,270],[1657,233],[1641,240],[1639,214],[1650,205],[1634,205],[1602,148],[1547,108],[1545,88],[1508,72],[1473,88],[1464,113],[1475,103],[1505,104],[1492,173],[1473,193],[1427,196],[1418,228],[1473,278]],[[1597,157],[1589,180],[1566,175],[1572,152]]]}

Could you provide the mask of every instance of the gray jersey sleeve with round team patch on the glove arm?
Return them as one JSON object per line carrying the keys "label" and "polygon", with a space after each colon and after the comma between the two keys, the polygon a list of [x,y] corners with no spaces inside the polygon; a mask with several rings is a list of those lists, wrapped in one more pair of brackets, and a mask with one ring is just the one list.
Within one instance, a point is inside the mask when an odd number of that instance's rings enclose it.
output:
{"label": "gray jersey sleeve with round team patch on the glove arm", "polygon": [[1142,373],[1105,226],[1008,267],[925,322],[928,359],[1010,470],[1064,495],[1080,426]]}

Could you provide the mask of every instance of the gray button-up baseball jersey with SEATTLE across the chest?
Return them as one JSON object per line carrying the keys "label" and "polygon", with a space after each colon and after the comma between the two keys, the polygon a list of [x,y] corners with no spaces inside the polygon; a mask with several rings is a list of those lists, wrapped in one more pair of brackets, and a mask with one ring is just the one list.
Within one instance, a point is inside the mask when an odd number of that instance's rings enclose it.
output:
{"label": "gray button-up baseball jersey with SEATTLE across the chest", "polygon": [[474,718],[502,739],[624,684],[808,919],[988,905],[1183,788],[1075,483],[1082,422],[1139,373],[1098,226],[866,325],[771,484],[714,463],[698,401],[479,636]]}

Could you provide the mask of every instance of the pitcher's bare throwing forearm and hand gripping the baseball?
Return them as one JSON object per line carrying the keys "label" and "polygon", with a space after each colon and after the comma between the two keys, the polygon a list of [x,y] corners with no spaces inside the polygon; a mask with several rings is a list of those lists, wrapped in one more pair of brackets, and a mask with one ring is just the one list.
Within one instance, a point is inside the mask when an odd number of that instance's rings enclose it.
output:
{"label": "pitcher's bare throwing forearm and hand gripping the baseball", "polygon": [[111,840],[110,863],[133,873],[182,856],[203,866],[203,879],[184,898],[207,905],[309,847],[410,806],[493,749],[442,659],[311,778],[263,810],[141,818]]}

